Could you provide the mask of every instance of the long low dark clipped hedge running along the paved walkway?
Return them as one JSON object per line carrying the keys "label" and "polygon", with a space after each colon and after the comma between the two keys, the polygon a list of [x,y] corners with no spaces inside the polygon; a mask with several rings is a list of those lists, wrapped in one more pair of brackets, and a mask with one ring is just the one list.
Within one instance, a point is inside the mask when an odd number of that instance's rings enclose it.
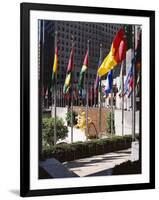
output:
{"label": "long low dark clipped hedge running along the paved walkway", "polygon": [[60,162],[72,161],[131,147],[132,136],[114,136],[87,142],[57,144],[43,150],[42,159],[54,157]]}

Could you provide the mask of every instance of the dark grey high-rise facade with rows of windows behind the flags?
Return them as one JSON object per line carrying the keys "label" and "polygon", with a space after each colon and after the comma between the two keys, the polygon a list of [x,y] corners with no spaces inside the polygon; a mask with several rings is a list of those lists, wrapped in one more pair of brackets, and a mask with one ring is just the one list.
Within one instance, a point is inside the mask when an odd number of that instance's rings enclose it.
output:
{"label": "dark grey high-rise facade with rows of windows behind the flags", "polygon": [[[45,20],[44,27],[41,27],[41,32],[44,31],[41,34],[44,40],[44,63],[42,70],[44,87],[51,84],[55,31],[58,32],[58,84],[64,84],[71,51],[72,35],[75,41],[74,80],[75,82],[78,81],[87,50],[87,40],[89,39],[90,56],[86,80],[89,81],[89,84],[93,84],[97,74],[100,44],[102,44],[102,57],[104,58],[108,54],[113,38],[121,26],[121,24]],[[119,72],[119,70],[117,71]]]}

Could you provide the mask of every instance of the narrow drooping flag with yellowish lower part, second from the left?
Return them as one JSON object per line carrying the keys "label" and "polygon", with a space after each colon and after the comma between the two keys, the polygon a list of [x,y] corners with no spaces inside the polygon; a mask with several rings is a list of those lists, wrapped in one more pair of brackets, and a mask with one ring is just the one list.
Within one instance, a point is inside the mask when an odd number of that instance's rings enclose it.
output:
{"label": "narrow drooping flag with yellowish lower part, second from the left", "polygon": [[72,82],[72,70],[73,70],[73,56],[74,56],[74,49],[72,48],[70,53],[69,62],[67,65],[67,71],[66,71],[66,79],[63,87],[63,93],[66,94],[69,92],[69,89],[71,87]]}

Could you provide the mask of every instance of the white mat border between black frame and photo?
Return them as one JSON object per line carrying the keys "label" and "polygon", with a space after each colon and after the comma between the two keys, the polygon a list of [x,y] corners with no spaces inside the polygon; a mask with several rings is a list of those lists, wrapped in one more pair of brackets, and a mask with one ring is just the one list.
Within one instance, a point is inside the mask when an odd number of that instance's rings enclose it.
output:
{"label": "white mat border between black frame and photo", "polygon": [[[142,174],[38,179],[38,19],[142,25]],[[30,12],[30,189],[149,183],[149,18],[66,12]]]}

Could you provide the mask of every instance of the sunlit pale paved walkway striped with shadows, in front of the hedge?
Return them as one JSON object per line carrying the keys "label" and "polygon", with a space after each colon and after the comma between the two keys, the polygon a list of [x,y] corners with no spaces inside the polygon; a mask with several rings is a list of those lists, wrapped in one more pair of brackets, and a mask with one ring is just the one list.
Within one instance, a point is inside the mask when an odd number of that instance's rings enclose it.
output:
{"label": "sunlit pale paved walkway striped with shadows, in front of the hedge", "polygon": [[63,163],[80,177],[110,175],[111,169],[131,159],[131,149],[120,150]]}

